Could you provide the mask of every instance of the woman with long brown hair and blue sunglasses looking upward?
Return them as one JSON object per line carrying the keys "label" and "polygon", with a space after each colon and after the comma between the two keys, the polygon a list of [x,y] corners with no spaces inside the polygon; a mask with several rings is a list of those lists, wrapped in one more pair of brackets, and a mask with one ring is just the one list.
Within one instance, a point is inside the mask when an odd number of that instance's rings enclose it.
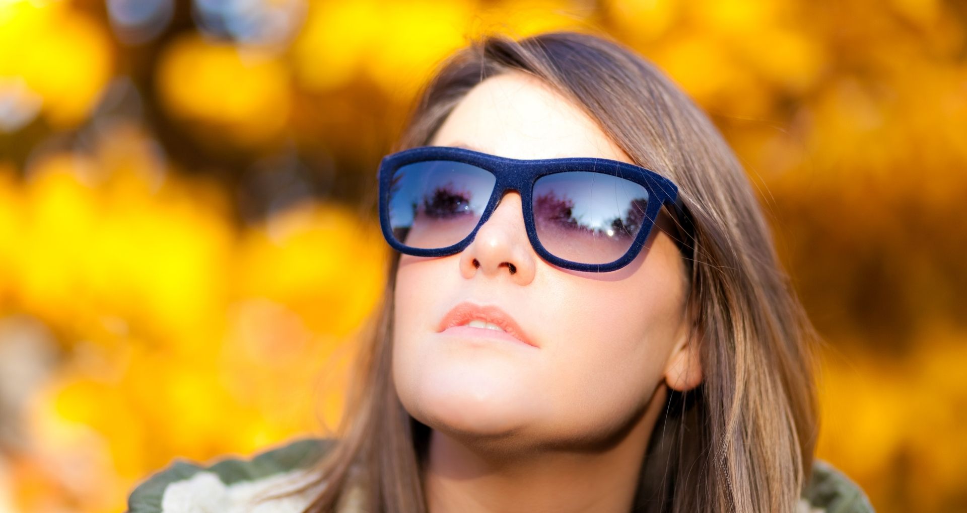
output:
{"label": "woman with long brown hair and blue sunglasses looking upward", "polygon": [[399,255],[338,436],[176,462],[132,513],[872,510],[813,458],[816,334],[747,176],[640,56],[475,42],[379,178]]}

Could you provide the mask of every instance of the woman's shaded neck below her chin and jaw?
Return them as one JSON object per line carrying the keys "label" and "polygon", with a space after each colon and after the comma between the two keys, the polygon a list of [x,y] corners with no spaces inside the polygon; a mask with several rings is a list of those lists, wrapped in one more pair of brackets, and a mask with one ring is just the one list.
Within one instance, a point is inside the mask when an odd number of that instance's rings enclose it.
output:
{"label": "woman's shaded neck below her chin and jaw", "polygon": [[628,513],[667,390],[616,442],[595,450],[495,451],[430,433],[424,486],[429,513]]}

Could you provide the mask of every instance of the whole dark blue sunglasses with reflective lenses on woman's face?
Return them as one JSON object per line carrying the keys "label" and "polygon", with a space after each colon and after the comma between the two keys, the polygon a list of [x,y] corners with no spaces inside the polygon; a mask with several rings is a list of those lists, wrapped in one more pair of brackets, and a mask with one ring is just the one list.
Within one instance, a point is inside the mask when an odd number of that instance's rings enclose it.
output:
{"label": "whole dark blue sunglasses with reflective lenses on woman's face", "polygon": [[[598,157],[518,159],[421,146],[383,157],[377,172],[383,236],[414,256],[462,251],[507,190],[520,194],[527,237],[573,271],[616,271],[645,245],[662,205],[691,241],[678,186],[641,166]],[[686,237],[675,237],[690,261]]]}

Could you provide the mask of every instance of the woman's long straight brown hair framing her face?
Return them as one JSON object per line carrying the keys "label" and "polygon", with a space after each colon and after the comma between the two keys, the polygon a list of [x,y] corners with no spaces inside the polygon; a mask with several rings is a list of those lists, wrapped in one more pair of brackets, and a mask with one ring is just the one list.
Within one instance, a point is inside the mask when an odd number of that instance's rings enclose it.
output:
{"label": "woman's long straight brown hair framing her face", "polygon": [[[687,309],[704,379],[669,393],[634,511],[794,511],[817,432],[811,346],[818,337],[738,159],[652,63],[604,36],[576,32],[472,41],[426,83],[393,150],[428,144],[470,89],[506,71],[540,78],[597,120],[634,163],[678,184],[694,224]],[[309,486],[326,486],[306,512],[337,511],[350,490],[370,512],[426,510],[429,428],[403,409],[391,379],[397,264],[394,254],[336,442],[313,469]]]}

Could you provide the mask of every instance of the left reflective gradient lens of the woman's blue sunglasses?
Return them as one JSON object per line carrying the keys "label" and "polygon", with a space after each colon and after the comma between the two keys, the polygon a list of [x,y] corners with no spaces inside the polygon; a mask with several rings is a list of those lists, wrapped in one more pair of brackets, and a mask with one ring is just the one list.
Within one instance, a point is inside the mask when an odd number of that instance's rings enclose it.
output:
{"label": "left reflective gradient lens of the woman's blue sunglasses", "polygon": [[388,198],[393,236],[419,249],[462,241],[480,221],[496,182],[493,173],[452,160],[400,166]]}

